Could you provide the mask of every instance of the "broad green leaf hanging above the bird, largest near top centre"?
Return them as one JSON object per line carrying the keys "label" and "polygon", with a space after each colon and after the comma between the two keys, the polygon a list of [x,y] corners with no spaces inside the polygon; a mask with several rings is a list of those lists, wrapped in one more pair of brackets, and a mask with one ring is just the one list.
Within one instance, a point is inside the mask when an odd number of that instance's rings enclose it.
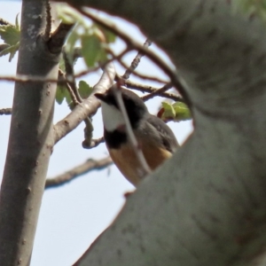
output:
{"label": "broad green leaf hanging above the bird, largest near top centre", "polygon": [[102,51],[96,35],[82,35],[82,57],[87,66],[95,66]]}

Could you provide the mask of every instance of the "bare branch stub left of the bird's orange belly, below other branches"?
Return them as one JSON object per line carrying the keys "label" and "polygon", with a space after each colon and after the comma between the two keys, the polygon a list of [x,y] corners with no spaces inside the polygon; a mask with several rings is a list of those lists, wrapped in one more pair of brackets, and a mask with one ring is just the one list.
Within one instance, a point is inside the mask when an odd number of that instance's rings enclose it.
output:
{"label": "bare branch stub left of the bird's orange belly, below other branches", "polygon": [[113,163],[112,159],[108,156],[102,160],[86,160],[81,165],[72,168],[64,174],[46,179],[45,188],[58,187],[59,185],[69,183],[74,178],[87,174],[91,170],[101,170]]}

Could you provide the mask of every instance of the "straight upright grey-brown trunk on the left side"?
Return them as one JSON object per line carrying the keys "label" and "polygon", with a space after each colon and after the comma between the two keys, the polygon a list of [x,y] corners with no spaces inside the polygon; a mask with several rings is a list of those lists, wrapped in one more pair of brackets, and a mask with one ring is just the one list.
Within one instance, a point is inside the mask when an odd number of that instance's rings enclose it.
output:
{"label": "straight upright grey-brown trunk on the left side", "polygon": [[[45,2],[24,0],[17,73],[56,79],[58,54],[40,34]],[[17,82],[12,124],[0,194],[0,264],[29,265],[45,177],[53,146],[56,84]]]}

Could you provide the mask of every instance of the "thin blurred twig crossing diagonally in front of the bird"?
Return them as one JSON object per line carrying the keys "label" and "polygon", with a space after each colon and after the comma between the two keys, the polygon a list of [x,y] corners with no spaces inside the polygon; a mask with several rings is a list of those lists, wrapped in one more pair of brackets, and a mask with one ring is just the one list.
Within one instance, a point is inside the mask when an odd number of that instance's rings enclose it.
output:
{"label": "thin blurred twig crossing diagonally in front of the bird", "polygon": [[130,121],[129,121],[129,116],[128,116],[126,107],[124,105],[124,102],[123,102],[123,99],[121,96],[121,87],[119,86],[118,82],[115,85],[113,85],[112,90],[113,90],[114,98],[117,101],[117,104],[119,106],[119,109],[121,110],[122,116],[123,116],[124,121],[125,121],[126,129],[127,129],[127,135],[129,137],[129,142],[132,145],[132,147],[136,153],[137,160],[139,161],[139,164],[141,166],[141,168],[139,169],[139,176],[141,178],[144,178],[145,176],[147,176],[148,174],[151,173],[151,168],[148,166],[148,164],[145,160],[145,156],[142,153],[142,150],[137,143],[137,138],[135,137],[135,135],[133,133],[133,129],[132,129]]}

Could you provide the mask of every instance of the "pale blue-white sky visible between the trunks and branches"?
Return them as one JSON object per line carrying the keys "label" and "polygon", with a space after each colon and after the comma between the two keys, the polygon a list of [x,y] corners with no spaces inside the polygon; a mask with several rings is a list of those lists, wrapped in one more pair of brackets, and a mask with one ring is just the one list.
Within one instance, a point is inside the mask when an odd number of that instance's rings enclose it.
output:
{"label": "pale blue-white sky visible between the trunks and branches", "polygon": [[[0,18],[14,23],[16,15],[20,13],[20,7],[20,1],[0,0]],[[144,43],[145,36],[141,35],[137,27],[117,18],[114,22],[126,33],[134,36],[137,41]],[[1,40],[0,43],[2,43]],[[113,44],[115,51],[121,51],[123,47],[121,42]],[[168,57],[158,47],[153,45],[151,49],[160,54],[168,64],[171,64]],[[124,61],[129,64],[134,56],[135,52],[130,52]],[[0,75],[15,75],[17,59],[18,54],[11,63],[8,62],[8,57],[0,58]],[[84,67],[82,60],[79,60],[76,70],[82,70]],[[117,64],[116,71],[119,74],[124,72]],[[166,79],[165,75],[148,59],[142,60],[137,71]],[[98,82],[100,74],[101,72],[98,72],[84,80],[92,86]],[[143,82],[137,78],[132,78],[132,81]],[[154,82],[145,83],[159,86]],[[13,87],[12,82],[0,81],[0,109],[12,107]],[[156,99],[148,102],[150,113],[156,113],[160,101],[161,99]],[[56,105],[54,123],[63,119],[69,112],[65,102],[60,106]],[[4,171],[10,121],[11,116],[0,116],[0,182]],[[102,137],[103,126],[100,112],[93,118],[93,125],[94,137]],[[191,121],[170,122],[168,125],[175,132],[180,144],[192,132]],[[82,123],[54,147],[47,176],[57,176],[81,164],[84,160],[97,160],[106,157],[108,153],[105,144],[99,145],[93,150],[82,148],[83,129],[84,124]],[[132,191],[134,191],[134,187],[121,176],[114,165],[100,171],[91,171],[59,188],[46,190],[43,194],[31,266],[72,265],[93,240],[106,229],[106,226],[112,223],[124,204],[124,193]]]}

